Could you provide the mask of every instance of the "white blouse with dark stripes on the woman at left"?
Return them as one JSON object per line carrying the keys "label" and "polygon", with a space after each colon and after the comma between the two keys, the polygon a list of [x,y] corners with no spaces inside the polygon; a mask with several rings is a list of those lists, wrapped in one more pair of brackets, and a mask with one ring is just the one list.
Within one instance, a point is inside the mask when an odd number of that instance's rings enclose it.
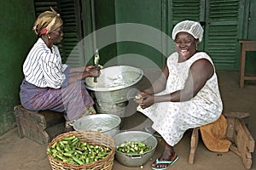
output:
{"label": "white blouse with dark stripes on the woman at left", "polygon": [[23,64],[26,82],[39,88],[66,87],[69,69],[68,65],[62,65],[57,46],[50,50],[42,38],[38,38]]}

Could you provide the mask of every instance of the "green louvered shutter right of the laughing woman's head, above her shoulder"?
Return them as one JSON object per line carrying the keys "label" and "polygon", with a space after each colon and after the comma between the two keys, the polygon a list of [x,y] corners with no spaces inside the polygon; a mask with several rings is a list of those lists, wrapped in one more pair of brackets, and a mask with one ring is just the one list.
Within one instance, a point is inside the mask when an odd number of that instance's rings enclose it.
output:
{"label": "green louvered shutter right of the laughing woman's head, above her shoulder", "polygon": [[239,0],[209,0],[205,50],[218,70],[236,70],[239,59]]}

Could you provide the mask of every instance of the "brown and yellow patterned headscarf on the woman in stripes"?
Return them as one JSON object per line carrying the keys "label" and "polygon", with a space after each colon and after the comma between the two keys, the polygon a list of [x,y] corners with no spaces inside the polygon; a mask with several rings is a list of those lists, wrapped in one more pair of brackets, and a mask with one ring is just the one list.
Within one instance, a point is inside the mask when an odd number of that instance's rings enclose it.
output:
{"label": "brown and yellow patterned headscarf on the woman in stripes", "polygon": [[35,31],[38,36],[55,31],[55,29],[63,25],[61,15],[57,14],[53,8],[50,7],[50,9],[51,11],[45,11],[39,14],[34,23],[32,30]]}

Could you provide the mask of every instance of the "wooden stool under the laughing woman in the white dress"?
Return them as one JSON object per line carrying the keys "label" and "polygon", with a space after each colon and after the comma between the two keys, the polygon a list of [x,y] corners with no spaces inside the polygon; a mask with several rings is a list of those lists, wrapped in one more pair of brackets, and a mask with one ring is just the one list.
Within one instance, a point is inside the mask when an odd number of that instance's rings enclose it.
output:
{"label": "wooden stool under the laughing woman in the white dress", "polygon": [[[230,139],[232,145],[230,150],[241,157],[241,161],[247,169],[253,164],[252,153],[255,141],[247,129],[249,113],[247,112],[225,112],[228,127],[226,137]],[[190,139],[189,164],[194,163],[195,150],[198,145],[200,127],[193,129]]]}

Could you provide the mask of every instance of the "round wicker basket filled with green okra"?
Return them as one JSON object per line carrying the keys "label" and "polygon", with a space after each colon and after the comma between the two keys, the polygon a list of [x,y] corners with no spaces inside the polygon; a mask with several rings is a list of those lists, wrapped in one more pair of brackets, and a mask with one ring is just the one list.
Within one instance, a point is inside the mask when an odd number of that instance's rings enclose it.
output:
{"label": "round wicker basket filled with green okra", "polygon": [[112,169],[114,154],[113,138],[96,131],[62,133],[47,147],[49,163],[55,170]]}

